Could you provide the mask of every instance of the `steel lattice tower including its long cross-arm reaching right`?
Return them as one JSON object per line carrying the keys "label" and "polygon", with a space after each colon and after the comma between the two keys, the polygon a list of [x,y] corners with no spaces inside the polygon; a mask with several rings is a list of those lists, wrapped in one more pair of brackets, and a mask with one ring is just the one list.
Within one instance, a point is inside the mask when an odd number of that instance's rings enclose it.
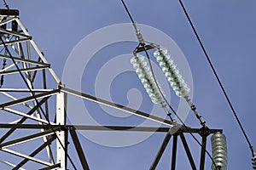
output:
{"label": "steel lattice tower including its long cross-arm reaching right", "polygon": [[[205,168],[207,136],[211,133],[221,133],[221,129],[184,128],[160,117],[149,116],[142,111],[135,111],[123,105],[65,88],[44,58],[44,54],[32,40],[32,36],[21,24],[18,10],[0,9],[0,26],[2,38],[0,58],[3,59],[3,68],[0,70],[2,86],[0,113],[3,117],[0,122],[0,150],[8,155],[4,157],[1,155],[2,163],[13,169],[24,169],[30,162],[37,163],[41,169],[67,169],[67,134],[70,134],[73,141],[71,144],[77,150],[81,166],[84,169],[90,169],[90,162],[87,163],[85,159],[86,151],[82,150],[76,129],[106,130],[106,127],[67,125],[67,94],[73,94],[165,124],[167,127],[107,127],[110,131],[136,129],[141,132],[166,133],[159,152],[156,153],[151,167],[148,165],[148,168],[155,169],[172,136],[172,169],[176,167],[177,137],[182,141],[191,168],[201,170]],[[55,84],[55,87],[50,87],[50,84]],[[55,104],[55,108],[49,107],[49,103]],[[202,138],[199,166],[196,166],[183,135],[190,132],[198,133]]]}

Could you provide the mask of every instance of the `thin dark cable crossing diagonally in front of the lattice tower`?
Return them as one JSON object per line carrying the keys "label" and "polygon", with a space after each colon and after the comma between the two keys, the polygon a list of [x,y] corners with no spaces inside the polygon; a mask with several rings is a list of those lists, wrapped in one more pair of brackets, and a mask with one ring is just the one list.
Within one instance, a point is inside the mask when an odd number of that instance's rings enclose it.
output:
{"label": "thin dark cable crossing diagonally in front of the lattice tower", "polygon": [[75,167],[72,158],[68,155],[67,150],[65,149],[64,145],[61,143],[61,139],[58,137],[57,133],[55,132],[55,129],[51,126],[50,122],[49,122],[49,118],[46,116],[46,114],[44,113],[43,108],[41,107],[41,105],[39,105],[38,99],[35,96],[34,92],[32,91],[32,88],[30,88],[28,82],[26,82],[26,78],[24,77],[24,75],[21,73],[19,65],[17,65],[17,63],[15,62],[15,59],[13,57],[13,55],[10,53],[9,48],[7,47],[6,43],[3,41],[3,38],[0,37],[1,42],[3,43],[3,47],[5,48],[6,52],[9,54],[9,57],[12,59],[16,69],[19,71],[20,73],[20,77],[22,78],[22,80],[25,82],[26,84],[26,88],[29,89],[30,93],[32,94],[32,97],[35,99],[36,104],[38,105],[40,111],[42,111],[46,121],[48,122],[48,126],[51,128],[51,130],[53,131],[53,133],[55,133],[56,139],[59,141],[59,143],[61,144],[61,148],[65,151],[65,154],[67,155],[68,160],[71,162],[71,164],[73,165],[73,168],[77,170],[77,168]]}

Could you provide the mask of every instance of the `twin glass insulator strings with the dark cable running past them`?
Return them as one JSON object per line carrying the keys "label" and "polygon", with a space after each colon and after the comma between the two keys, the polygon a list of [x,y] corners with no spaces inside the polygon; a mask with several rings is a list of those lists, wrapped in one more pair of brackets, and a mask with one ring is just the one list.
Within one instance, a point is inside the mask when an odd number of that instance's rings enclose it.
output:
{"label": "twin glass insulator strings with the dark cable running past them", "polygon": [[[148,58],[149,70],[148,70],[147,62],[143,62],[144,57],[142,55],[138,55],[137,51],[134,52],[134,56],[131,59],[131,64],[137,71],[138,77],[141,79],[141,82],[143,83],[144,88],[146,88],[147,92],[149,94],[151,94],[151,95],[149,95],[149,97],[151,98],[151,100],[154,103],[156,103],[156,104],[160,103],[162,105],[162,107],[165,109],[167,115],[170,116],[170,118],[172,119],[171,113],[166,108],[166,105],[168,105],[170,107],[170,109],[172,110],[172,112],[175,114],[175,116],[177,116],[178,120],[180,122],[182,122],[183,127],[185,127],[188,130],[189,134],[193,137],[193,139],[195,139],[197,144],[201,145],[201,143],[198,141],[198,139],[195,138],[195,136],[189,131],[189,128],[186,127],[186,125],[184,124],[182,119],[177,115],[176,111],[173,110],[172,105],[170,105],[168,103],[168,101],[166,100],[166,97],[162,93],[162,90],[160,89],[160,86],[159,86],[158,82],[156,81],[156,78],[154,77],[154,71],[153,71],[153,68],[151,65],[151,61],[148,56],[148,52],[147,52],[148,49],[146,48],[146,44],[145,44],[145,41],[143,40],[143,36],[142,36],[141,32],[137,29],[136,23],[132,19],[129,10],[125,5],[124,0],[121,0],[121,2],[123,3],[125,10],[126,10],[127,14],[129,15],[131,22],[136,30],[137,39],[140,42],[140,44],[137,48],[142,47],[143,51],[145,51],[145,54],[147,55],[147,58]],[[157,47],[157,45],[155,45],[154,43],[150,43],[150,46],[151,45],[154,46],[153,48]],[[191,99],[189,99],[189,92],[190,92],[189,86],[186,84],[186,82],[184,82],[181,74],[179,74],[179,71],[176,69],[176,65],[173,64],[172,60],[168,61],[170,59],[170,57],[166,57],[165,54],[163,55],[160,52],[161,51],[160,48],[158,48],[158,50],[159,50],[159,53],[156,52],[155,55],[161,55],[161,57],[159,57],[159,62],[161,62],[162,67],[164,67],[164,65],[167,66],[167,68],[165,68],[163,71],[164,72],[166,71],[165,73],[167,75],[166,76],[167,79],[169,77],[169,80],[170,80],[169,82],[170,83],[172,82],[171,86],[172,86],[173,90],[179,97],[184,97],[187,100],[191,109],[195,112],[196,117],[200,120],[201,125],[206,127],[205,122],[203,122],[201,120],[201,116],[195,110],[196,109],[195,105],[191,102]],[[168,71],[170,71],[170,74],[168,74],[169,73]],[[161,97],[159,96],[159,94]],[[202,147],[202,145],[201,145],[201,147]],[[206,149],[204,149],[204,150],[206,151],[207,155],[211,158],[212,166],[216,167],[216,169],[217,169],[217,165],[213,161],[212,156],[209,154],[209,152]]]}

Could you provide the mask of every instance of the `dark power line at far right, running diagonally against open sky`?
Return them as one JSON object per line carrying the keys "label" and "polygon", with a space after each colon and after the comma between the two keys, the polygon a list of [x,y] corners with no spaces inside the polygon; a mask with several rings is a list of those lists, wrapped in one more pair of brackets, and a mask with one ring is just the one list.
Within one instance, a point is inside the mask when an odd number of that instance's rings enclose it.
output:
{"label": "dark power line at far right, running diagonally against open sky", "polygon": [[232,103],[231,103],[231,101],[230,101],[230,97],[229,97],[228,94],[226,93],[226,91],[225,91],[225,89],[224,89],[224,86],[223,86],[222,82],[220,81],[220,79],[219,79],[219,77],[218,77],[217,71],[215,70],[214,66],[212,65],[212,61],[211,61],[209,55],[207,54],[207,50],[206,50],[206,48],[204,47],[203,43],[201,42],[201,38],[199,37],[197,31],[195,30],[195,26],[194,26],[193,22],[190,20],[189,14],[188,14],[186,8],[184,7],[182,0],[179,0],[179,3],[180,3],[180,5],[181,5],[182,8],[183,8],[183,12],[184,12],[184,14],[185,14],[186,17],[187,17],[187,20],[189,20],[189,24],[190,24],[192,30],[193,30],[194,33],[195,33],[195,37],[196,37],[197,41],[200,43],[201,49],[203,50],[203,53],[205,54],[205,56],[206,56],[206,58],[207,58],[207,62],[208,62],[208,64],[210,65],[210,67],[211,67],[211,69],[212,69],[212,71],[213,71],[213,74],[214,74],[214,76],[216,77],[216,79],[217,79],[217,81],[218,81],[218,85],[220,86],[220,88],[221,88],[221,90],[222,90],[222,92],[223,92],[223,94],[224,94],[225,99],[227,100],[228,104],[230,105],[230,109],[231,109],[231,111],[233,112],[233,115],[236,117],[236,122],[238,122],[238,125],[239,125],[239,127],[241,128],[241,132],[243,133],[245,139],[247,140],[247,144],[249,145],[249,148],[250,148],[250,150],[251,150],[252,153],[253,153],[253,151],[254,151],[254,150],[253,150],[253,145],[251,144],[250,140],[249,140],[248,137],[247,137],[247,133],[245,132],[244,128],[243,128],[242,125],[241,125],[241,122],[240,122],[240,120],[239,120],[239,118],[238,118],[238,116],[237,116],[237,114],[236,114],[236,111],[235,111],[235,109],[234,109],[234,107],[233,107],[233,105],[232,105]]}

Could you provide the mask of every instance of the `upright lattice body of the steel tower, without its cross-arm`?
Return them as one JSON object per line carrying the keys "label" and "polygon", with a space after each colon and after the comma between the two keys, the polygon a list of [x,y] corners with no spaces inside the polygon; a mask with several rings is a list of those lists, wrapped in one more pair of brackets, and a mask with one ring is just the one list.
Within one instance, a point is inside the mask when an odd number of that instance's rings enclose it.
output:
{"label": "upright lattice body of the steel tower, without its cross-arm", "polygon": [[[35,161],[47,167],[66,169],[67,139],[65,133],[67,132],[59,127],[52,127],[65,125],[66,99],[65,94],[60,92],[58,86],[57,88],[48,86],[48,74],[53,77],[55,84],[58,85],[60,80],[50,68],[44,54],[32,40],[25,26],[21,24],[18,10],[1,9],[0,26],[0,46],[2,47],[0,58],[3,59],[3,68],[0,71],[2,86],[0,108],[3,117],[1,122],[8,121],[7,124],[13,125],[3,133],[0,139],[1,150],[23,158],[23,161],[18,164],[9,161],[3,162],[14,166],[15,169],[19,169],[27,161]],[[49,99],[54,96],[55,116],[49,114]],[[9,120],[5,120],[5,117],[8,117]],[[51,121],[53,118],[55,118],[55,122]],[[38,127],[39,132],[37,133],[27,130],[26,135],[22,136],[19,126],[23,123],[44,125],[45,128]],[[34,141],[40,139],[44,142],[39,147],[33,144]],[[54,159],[53,150],[50,147],[54,140],[56,141],[56,159]],[[26,153],[14,150],[24,147],[24,144],[29,146],[26,147]],[[32,150],[33,147],[36,149]],[[31,153],[29,153],[30,150]],[[48,160],[34,157],[42,150],[46,150]]]}

